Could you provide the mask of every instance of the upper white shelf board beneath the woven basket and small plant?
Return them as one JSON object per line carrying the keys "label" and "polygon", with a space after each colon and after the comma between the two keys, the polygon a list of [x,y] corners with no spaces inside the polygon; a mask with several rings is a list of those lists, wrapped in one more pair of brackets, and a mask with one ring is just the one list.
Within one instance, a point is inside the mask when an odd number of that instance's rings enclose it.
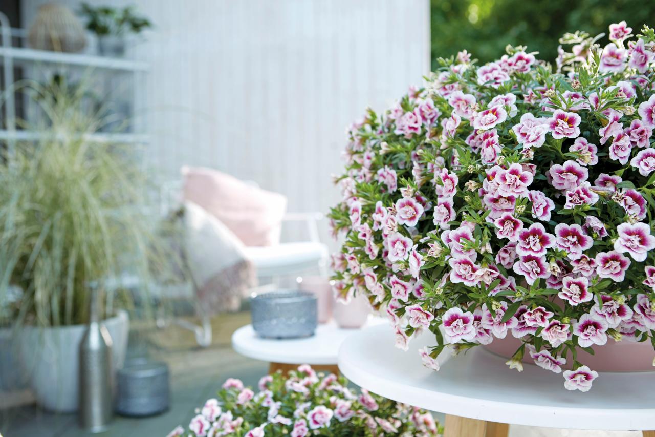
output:
{"label": "upper white shelf board beneath the woven basket and small plant", "polygon": [[79,53],[50,52],[22,47],[0,47],[0,60],[5,57],[13,58],[14,61],[45,62],[48,64],[124,70],[126,72],[146,72],[149,68],[146,62],[138,60],[107,58]]}

